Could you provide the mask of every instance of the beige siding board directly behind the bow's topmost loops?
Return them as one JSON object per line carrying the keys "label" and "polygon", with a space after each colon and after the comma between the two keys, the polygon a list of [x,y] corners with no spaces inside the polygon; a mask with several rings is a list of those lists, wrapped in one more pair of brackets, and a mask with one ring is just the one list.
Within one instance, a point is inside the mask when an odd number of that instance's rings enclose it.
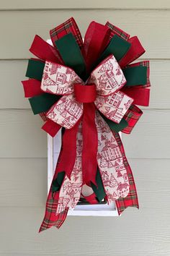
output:
{"label": "beige siding board directly behind the bow's topmost loops", "polygon": [[[91,19],[107,20],[130,33],[138,35],[147,49],[145,58],[170,58],[170,11],[161,10],[82,10],[82,11],[6,11],[0,15],[0,59],[23,59],[35,36],[49,38],[48,31],[69,17],[75,17],[84,35]],[[4,26],[5,24],[5,26]]]}

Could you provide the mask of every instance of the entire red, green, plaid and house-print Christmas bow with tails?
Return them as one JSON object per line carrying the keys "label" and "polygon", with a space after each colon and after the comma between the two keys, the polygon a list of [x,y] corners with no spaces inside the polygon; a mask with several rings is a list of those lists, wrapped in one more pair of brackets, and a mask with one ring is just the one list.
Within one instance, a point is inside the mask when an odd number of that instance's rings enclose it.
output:
{"label": "entire red, green, plaid and house-print Christmas bow with tails", "polygon": [[[138,37],[120,28],[91,22],[84,41],[73,18],[50,30],[53,46],[35,35],[22,81],[42,129],[62,147],[40,231],[66,219],[79,200],[115,202],[121,214],[138,208],[133,174],[119,132],[130,134],[149,103],[149,61]],[[136,106],[138,105],[138,106]],[[91,195],[84,195],[84,187]]]}

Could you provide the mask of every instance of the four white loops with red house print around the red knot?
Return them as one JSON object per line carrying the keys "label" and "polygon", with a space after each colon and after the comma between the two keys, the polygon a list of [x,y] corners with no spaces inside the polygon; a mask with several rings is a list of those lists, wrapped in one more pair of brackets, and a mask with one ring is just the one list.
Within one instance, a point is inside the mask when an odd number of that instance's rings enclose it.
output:
{"label": "four white loops with red house print around the red knot", "polygon": [[[125,85],[125,77],[117,60],[113,55],[104,59],[99,66],[91,72],[86,85],[95,84],[97,98],[94,101],[99,111],[108,119],[120,123],[122,116],[133,103],[133,99],[120,90]],[[63,95],[47,113],[47,117],[57,124],[71,129],[83,114],[83,103],[76,101],[73,95],[73,85],[83,80],[69,67],[50,61],[45,62],[42,75],[41,89],[45,93]]]}

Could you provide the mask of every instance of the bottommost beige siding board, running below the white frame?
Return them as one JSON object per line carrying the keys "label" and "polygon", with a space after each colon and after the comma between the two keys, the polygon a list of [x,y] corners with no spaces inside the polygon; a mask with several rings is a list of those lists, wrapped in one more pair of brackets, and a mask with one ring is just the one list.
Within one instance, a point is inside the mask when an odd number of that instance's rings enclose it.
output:
{"label": "bottommost beige siding board, running below the white frame", "polygon": [[68,217],[37,234],[42,208],[0,209],[1,256],[169,256],[169,209],[129,208],[120,218]]}

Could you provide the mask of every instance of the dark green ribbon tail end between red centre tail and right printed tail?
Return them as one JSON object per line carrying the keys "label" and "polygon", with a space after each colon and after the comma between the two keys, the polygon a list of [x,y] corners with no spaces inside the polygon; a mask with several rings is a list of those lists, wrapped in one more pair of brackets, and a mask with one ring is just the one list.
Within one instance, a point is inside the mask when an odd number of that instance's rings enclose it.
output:
{"label": "dark green ribbon tail end between red centre tail and right printed tail", "polygon": [[106,193],[104,192],[102,177],[100,175],[99,169],[97,169],[96,182],[97,182],[97,186],[91,182],[91,187],[94,191],[94,194],[97,196],[97,199],[99,200],[99,202],[102,202]]}

